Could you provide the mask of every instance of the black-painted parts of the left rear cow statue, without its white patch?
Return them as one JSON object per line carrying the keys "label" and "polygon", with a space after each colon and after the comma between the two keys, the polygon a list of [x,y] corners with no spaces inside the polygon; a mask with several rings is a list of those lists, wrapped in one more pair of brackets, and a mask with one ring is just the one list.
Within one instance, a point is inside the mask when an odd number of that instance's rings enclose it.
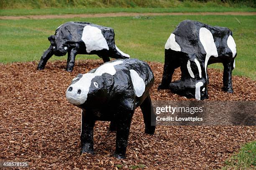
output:
{"label": "black-painted parts of the left rear cow statue, without its white patch", "polygon": [[[99,51],[91,51],[87,53],[84,41],[82,41],[82,33],[85,26],[90,25],[99,28],[108,43],[109,50],[102,49]],[[44,69],[47,61],[51,56],[67,57],[67,71],[72,71],[74,67],[75,57],[77,54],[96,54],[103,59],[104,62],[110,61],[110,58],[128,58],[123,56],[115,48],[115,33],[113,28],[95,25],[85,22],[68,22],[56,29],[53,36],[49,36],[51,42],[49,48],[41,56],[41,61],[38,63],[38,70]],[[67,47],[67,49],[65,49]]]}

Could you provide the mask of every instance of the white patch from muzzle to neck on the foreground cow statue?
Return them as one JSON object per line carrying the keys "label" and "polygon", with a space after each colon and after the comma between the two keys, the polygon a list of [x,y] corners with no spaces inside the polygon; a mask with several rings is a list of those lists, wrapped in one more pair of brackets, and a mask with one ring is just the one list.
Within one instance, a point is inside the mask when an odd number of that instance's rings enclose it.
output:
{"label": "white patch from muzzle to neck on the foreground cow statue", "polygon": [[[111,63],[105,63],[98,67],[94,73],[86,73],[74,84],[71,84],[69,87],[72,87],[72,91],[66,91],[67,100],[76,105],[83,104],[87,100],[87,94],[89,92],[91,81],[95,76],[101,76],[104,73],[111,74],[112,76],[116,73],[115,65],[123,63],[123,61],[113,61]],[[90,72],[90,71],[89,71]],[[77,94],[77,91],[81,90],[80,94]]]}

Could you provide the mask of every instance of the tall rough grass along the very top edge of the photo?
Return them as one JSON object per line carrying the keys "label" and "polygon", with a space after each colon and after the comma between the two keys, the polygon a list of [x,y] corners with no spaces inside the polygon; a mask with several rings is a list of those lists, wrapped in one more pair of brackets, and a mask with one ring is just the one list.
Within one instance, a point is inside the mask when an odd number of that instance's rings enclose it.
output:
{"label": "tall rough grass along the very top edge of the photo", "polygon": [[253,0],[1,0],[0,9],[16,8],[169,8],[169,7],[256,7]]}

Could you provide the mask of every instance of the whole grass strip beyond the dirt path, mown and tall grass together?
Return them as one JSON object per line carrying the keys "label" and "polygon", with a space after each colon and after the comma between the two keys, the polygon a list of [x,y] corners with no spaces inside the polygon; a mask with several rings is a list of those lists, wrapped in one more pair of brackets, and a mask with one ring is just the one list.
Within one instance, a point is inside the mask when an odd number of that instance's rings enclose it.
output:
{"label": "whole grass strip beyond the dirt path, mown and tall grass together", "polygon": [[[202,1],[202,0],[199,0]],[[255,12],[250,0],[1,0],[0,15],[81,13]],[[235,2],[235,3],[234,3]],[[29,10],[28,10],[29,9]]]}

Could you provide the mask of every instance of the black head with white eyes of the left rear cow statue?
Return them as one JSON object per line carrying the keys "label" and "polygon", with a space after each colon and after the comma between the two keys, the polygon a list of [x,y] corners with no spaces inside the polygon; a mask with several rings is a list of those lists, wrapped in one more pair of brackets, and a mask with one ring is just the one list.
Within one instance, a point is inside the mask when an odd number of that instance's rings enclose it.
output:
{"label": "black head with white eyes of the left rear cow statue", "polygon": [[67,40],[60,36],[49,36],[48,40],[51,42],[51,46],[55,56],[65,56],[68,51]]}

